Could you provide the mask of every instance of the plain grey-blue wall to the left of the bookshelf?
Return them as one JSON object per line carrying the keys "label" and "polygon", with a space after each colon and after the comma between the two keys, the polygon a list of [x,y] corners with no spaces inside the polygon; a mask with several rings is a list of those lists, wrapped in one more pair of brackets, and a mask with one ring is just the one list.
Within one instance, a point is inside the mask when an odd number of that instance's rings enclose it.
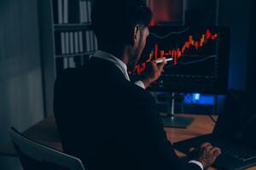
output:
{"label": "plain grey-blue wall to the left of the bookshelf", "polygon": [[[0,145],[44,117],[36,0],[0,0]],[[20,169],[0,156],[0,169]]]}

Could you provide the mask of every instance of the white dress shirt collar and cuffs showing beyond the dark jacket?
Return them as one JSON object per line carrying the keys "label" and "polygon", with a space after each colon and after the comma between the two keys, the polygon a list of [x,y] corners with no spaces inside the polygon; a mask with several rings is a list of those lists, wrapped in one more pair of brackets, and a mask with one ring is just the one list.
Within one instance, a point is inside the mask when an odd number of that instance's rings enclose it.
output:
{"label": "white dress shirt collar and cuffs showing beyond the dark jacket", "polygon": [[[128,71],[127,71],[127,66],[125,65],[125,63],[121,60],[118,59],[117,57],[113,56],[112,54],[108,54],[107,52],[98,50],[96,51],[96,54],[94,54],[92,57],[98,58],[98,59],[106,59],[110,62],[113,63],[113,65],[117,66],[120,71],[123,72],[125,78],[130,81],[130,77],[128,75]],[[135,82],[135,84],[143,89],[145,89],[145,85],[142,81],[137,81]],[[195,163],[196,165],[198,165],[199,167],[201,167],[201,169],[203,170],[203,165],[201,164],[200,161],[189,161],[189,163]]]}

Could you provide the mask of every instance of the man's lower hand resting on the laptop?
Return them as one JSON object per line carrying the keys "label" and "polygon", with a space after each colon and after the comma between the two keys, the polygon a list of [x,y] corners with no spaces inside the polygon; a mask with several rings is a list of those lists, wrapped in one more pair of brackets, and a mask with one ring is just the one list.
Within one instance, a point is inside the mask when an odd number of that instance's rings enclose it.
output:
{"label": "man's lower hand resting on the laptop", "polygon": [[200,148],[190,149],[189,158],[191,160],[200,161],[204,169],[211,167],[212,163],[221,154],[218,147],[212,146],[210,143],[201,144]]}

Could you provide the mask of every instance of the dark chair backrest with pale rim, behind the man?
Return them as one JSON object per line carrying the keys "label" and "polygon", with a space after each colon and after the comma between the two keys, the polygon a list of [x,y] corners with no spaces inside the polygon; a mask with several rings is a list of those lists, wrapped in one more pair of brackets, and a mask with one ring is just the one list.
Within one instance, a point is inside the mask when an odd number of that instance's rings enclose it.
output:
{"label": "dark chair backrest with pale rim, behind the man", "polygon": [[79,158],[38,144],[19,133],[14,127],[10,128],[10,136],[24,170],[84,170]]}

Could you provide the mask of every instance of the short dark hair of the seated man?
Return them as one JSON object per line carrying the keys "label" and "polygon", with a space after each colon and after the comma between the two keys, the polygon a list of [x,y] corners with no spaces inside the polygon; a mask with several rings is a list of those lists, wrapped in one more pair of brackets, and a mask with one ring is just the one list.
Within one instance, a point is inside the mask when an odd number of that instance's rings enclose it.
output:
{"label": "short dark hair of the seated man", "polygon": [[141,0],[96,0],[91,13],[99,46],[133,44],[135,26],[149,26],[152,12]]}

